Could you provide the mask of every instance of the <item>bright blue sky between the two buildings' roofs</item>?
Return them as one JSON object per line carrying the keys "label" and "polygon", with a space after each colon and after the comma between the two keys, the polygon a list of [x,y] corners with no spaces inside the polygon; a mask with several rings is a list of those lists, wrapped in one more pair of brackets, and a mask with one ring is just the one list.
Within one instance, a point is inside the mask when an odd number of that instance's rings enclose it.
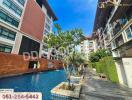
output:
{"label": "bright blue sky between the two buildings' roofs", "polygon": [[56,23],[62,30],[81,28],[91,35],[96,14],[97,0],[48,0],[58,17]]}

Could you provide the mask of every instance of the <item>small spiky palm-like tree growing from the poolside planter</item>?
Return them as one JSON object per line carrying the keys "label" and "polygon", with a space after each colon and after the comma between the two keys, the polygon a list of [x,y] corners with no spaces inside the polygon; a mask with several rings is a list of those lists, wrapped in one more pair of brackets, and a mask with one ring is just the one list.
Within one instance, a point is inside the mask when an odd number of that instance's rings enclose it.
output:
{"label": "small spiky palm-like tree growing from the poolside planter", "polygon": [[67,74],[67,80],[68,80],[69,87],[71,86],[70,76],[82,74],[82,70],[79,71],[78,68],[80,67],[80,69],[82,69],[81,65],[83,65],[85,62],[83,57],[84,56],[81,53],[75,51],[75,52],[71,52],[69,55],[63,58],[63,62],[64,64],[66,64],[66,66],[64,66],[64,70]]}

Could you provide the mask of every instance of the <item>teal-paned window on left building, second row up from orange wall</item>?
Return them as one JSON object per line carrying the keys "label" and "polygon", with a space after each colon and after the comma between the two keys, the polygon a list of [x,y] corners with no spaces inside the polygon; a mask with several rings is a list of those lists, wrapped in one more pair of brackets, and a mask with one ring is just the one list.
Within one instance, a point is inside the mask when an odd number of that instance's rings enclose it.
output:
{"label": "teal-paned window on left building, second row up from orange wall", "polygon": [[0,37],[14,41],[16,33],[0,26]]}

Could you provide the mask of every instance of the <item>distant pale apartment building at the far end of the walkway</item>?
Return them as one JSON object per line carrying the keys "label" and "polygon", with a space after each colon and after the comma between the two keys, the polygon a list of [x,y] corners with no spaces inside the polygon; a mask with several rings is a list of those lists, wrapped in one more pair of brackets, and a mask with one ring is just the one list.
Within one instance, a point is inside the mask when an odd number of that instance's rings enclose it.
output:
{"label": "distant pale apartment building at the far end of the walkway", "polygon": [[89,59],[89,54],[95,52],[95,41],[92,37],[85,37],[80,43],[80,52],[85,55],[86,60]]}

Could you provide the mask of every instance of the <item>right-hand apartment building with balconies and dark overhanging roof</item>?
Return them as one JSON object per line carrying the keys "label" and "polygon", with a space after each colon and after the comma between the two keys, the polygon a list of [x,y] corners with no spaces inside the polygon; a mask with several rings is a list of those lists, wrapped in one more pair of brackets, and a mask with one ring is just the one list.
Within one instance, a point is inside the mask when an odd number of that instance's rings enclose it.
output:
{"label": "right-hand apartment building with balconies and dark overhanging roof", "polygon": [[96,11],[93,29],[96,48],[105,48],[112,52],[119,82],[132,88],[132,1],[104,1],[107,2],[105,7],[97,7]]}

